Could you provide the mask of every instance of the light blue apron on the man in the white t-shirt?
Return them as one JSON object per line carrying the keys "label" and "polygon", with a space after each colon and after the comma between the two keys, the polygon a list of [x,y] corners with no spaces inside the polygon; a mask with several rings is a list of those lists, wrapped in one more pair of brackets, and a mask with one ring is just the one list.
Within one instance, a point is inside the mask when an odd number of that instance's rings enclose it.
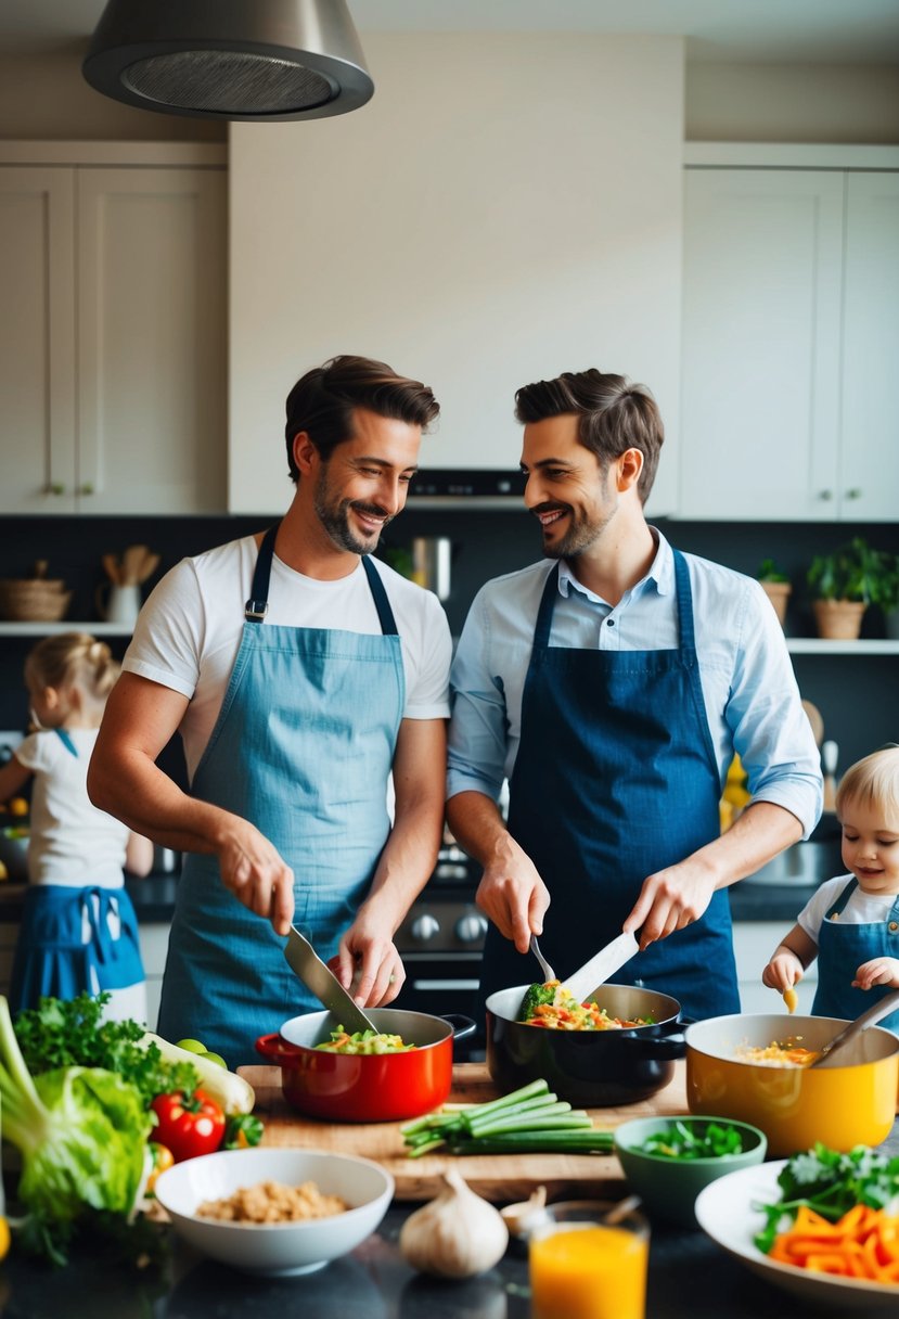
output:
{"label": "light blue apron on the man in the white t-shirt", "polygon": [[[397,625],[362,558],[381,634],[265,624],[277,526],[266,532],[244,630],[194,797],[250,820],[294,872],[294,925],[326,960],[352,925],[390,832],[386,790],[405,706]],[[254,1041],[320,1009],[285,940],[190,853],[178,882],[160,1034],[190,1037],[229,1067]]]}

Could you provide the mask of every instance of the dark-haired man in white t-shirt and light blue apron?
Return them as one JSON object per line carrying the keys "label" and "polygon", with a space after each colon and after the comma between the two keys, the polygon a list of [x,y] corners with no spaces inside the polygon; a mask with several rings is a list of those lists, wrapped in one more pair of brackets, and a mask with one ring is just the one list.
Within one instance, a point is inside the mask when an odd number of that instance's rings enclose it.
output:
{"label": "dark-haired man in white t-shirt and light blue apron", "polygon": [[[436,598],[369,555],[438,412],[384,363],[307,372],[283,520],[160,582],[107,706],[94,802],[186,853],[160,1031],[231,1066],[320,1006],[282,956],[291,919],[360,1005],[405,979],[393,935],[440,842],[451,638]],[[175,731],[188,793],[156,764]]]}

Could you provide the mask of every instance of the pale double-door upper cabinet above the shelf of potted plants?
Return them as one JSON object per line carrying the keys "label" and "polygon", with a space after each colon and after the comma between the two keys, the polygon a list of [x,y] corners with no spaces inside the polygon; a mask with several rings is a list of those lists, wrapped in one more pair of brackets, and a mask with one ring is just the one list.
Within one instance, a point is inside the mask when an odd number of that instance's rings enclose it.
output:
{"label": "pale double-door upper cabinet above the shelf of potted plants", "polygon": [[679,516],[894,521],[899,171],[754,152],[687,169]]}

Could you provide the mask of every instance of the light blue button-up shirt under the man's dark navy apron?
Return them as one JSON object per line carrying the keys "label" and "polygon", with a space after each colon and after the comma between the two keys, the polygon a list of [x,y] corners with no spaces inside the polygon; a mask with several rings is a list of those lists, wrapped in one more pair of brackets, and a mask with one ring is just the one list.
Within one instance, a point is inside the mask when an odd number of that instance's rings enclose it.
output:
{"label": "light blue button-up shirt under the man's dark navy apron", "polygon": [[[652,536],[658,542],[652,566],[614,608],[560,565],[551,645],[604,650],[678,645],[674,555],[655,528]],[[684,558],[721,786],[737,752],[753,801],[791,811],[807,838],[821,814],[821,761],[778,617],[758,582],[692,554]],[[496,801],[504,778],[511,776],[536,611],[554,567],[555,561],[544,559],[496,578],[472,603],[450,679],[448,797],[475,790]],[[564,765],[558,769],[564,774]]]}

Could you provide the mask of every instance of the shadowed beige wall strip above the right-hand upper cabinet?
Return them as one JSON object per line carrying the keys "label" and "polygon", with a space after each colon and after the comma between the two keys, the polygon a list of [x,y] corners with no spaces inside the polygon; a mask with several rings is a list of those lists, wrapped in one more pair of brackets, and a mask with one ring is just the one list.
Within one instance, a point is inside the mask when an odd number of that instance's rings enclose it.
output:
{"label": "shadowed beige wall strip above the right-hand upper cabinet", "polygon": [[687,70],[687,140],[899,142],[899,69],[712,65]]}

